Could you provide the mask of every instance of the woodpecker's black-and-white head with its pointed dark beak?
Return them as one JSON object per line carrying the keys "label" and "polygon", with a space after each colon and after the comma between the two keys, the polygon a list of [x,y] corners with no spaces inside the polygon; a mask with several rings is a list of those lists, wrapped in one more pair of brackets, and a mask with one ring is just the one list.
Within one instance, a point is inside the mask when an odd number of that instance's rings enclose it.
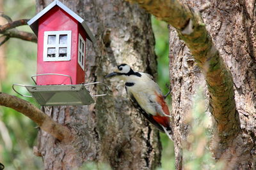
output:
{"label": "woodpecker's black-and-white head with its pointed dark beak", "polygon": [[134,73],[134,71],[131,69],[130,66],[128,66],[127,64],[120,64],[119,66],[117,66],[117,68],[115,69],[115,71],[113,73],[110,73],[108,75],[106,75],[106,78],[111,78],[111,77],[118,77],[122,80],[124,80],[124,78],[126,76],[131,75],[132,73]]}

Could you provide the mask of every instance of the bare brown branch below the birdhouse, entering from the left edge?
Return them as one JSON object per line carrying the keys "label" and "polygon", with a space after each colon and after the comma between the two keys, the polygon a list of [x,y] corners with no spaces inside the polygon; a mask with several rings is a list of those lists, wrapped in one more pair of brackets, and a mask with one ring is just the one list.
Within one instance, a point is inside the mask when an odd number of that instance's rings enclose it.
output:
{"label": "bare brown branch below the birdhouse, entering from the left edge", "polygon": [[67,127],[54,122],[48,115],[45,115],[44,112],[28,101],[0,92],[0,106],[6,106],[19,111],[33,120],[42,130],[48,132],[60,141],[72,140],[72,134]]}

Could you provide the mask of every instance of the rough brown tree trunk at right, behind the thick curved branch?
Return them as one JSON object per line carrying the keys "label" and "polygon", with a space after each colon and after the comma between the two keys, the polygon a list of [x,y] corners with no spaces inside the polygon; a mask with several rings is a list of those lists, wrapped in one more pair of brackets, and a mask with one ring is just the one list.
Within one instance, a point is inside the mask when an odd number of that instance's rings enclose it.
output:
{"label": "rough brown tree trunk at right, behind the thick curved branch", "polygon": [[[182,2],[196,10],[206,3],[204,0]],[[256,1],[250,0],[211,1],[209,8],[202,11],[207,30],[232,73],[236,108],[241,122],[241,132],[225,145],[216,142],[218,141],[216,133],[212,135],[213,156],[216,159],[225,159],[227,169],[256,168],[255,5]],[[173,97],[172,115],[177,134],[175,135],[176,167],[179,169],[182,162],[182,143],[186,142],[191,130],[187,119],[191,114],[193,97],[198,87],[204,87],[206,96],[207,90],[203,74],[200,73],[188,48],[179,40],[172,27],[170,27],[170,78]]]}

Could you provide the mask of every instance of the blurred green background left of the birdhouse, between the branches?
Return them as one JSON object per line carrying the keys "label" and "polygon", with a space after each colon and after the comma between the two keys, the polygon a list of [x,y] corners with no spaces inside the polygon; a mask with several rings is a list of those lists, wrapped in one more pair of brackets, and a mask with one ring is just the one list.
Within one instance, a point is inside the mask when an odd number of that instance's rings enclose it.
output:
{"label": "blurred green background left of the birdhouse, between the branches", "polygon": [[[4,11],[13,20],[31,18],[35,15],[35,1],[4,1]],[[18,29],[30,31],[28,26]],[[36,73],[36,44],[10,39],[6,43],[5,59],[7,75],[6,79],[1,81],[0,90],[18,96],[12,90],[12,84],[32,84],[30,76]],[[19,91],[28,94],[26,89]],[[27,100],[36,104],[31,98]],[[35,127],[35,123],[17,111],[0,107],[0,162],[4,164],[5,169],[41,169],[42,160],[33,155],[32,149],[36,144]]]}

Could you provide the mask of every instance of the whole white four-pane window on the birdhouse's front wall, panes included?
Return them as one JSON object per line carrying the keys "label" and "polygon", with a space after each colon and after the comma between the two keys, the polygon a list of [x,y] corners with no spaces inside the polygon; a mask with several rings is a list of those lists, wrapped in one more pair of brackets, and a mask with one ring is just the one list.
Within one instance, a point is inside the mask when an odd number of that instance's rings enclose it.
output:
{"label": "whole white four-pane window on the birdhouse's front wall, panes included", "polygon": [[70,60],[71,31],[44,32],[44,61]]}

